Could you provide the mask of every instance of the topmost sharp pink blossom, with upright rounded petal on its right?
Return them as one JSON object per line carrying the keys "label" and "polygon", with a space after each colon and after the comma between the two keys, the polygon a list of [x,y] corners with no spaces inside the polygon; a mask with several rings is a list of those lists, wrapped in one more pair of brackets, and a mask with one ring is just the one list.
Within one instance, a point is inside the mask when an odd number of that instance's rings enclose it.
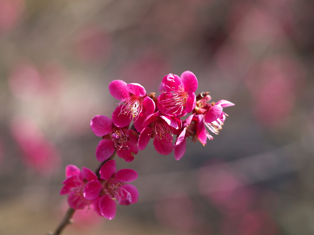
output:
{"label": "topmost sharp pink blossom, with upright rounded petal on its right", "polygon": [[198,87],[196,76],[185,71],[181,77],[168,74],[162,80],[161,95],[157,107],[169,116],[182,117],[195,108],[195,91]]}

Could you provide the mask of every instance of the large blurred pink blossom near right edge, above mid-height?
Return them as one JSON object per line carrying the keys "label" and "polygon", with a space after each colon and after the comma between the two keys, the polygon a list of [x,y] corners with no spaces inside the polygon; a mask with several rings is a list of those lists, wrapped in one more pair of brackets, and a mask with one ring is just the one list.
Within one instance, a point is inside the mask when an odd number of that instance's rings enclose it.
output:
{"label": "large blurred pink blossom near right edge, above mid-height", "polygon": [[288,120],[303,86],[304,71],[295,60],[277,56],[252,67],[245,81],[257,119],[274,128]]}

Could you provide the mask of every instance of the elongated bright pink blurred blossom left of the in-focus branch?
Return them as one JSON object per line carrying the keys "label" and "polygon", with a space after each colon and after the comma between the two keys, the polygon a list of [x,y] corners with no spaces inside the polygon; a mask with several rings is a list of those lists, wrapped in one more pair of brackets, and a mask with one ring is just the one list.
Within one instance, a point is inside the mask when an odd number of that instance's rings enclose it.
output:
{"label": "elongated bright pink blurred blossom left of the in-focus branch", "polygon": [[11,122],[11,133],[22,150],[24,162],[41,175],[49,175],[60,165],[54,144],[46,139],[29,118],[16,117]]}

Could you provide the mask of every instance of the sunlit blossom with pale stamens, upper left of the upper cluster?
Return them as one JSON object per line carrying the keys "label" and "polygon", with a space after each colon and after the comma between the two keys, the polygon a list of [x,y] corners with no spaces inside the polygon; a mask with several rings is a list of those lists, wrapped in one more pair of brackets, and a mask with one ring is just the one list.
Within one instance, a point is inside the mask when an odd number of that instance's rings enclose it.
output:
{"label": "sunlit blossom with pale stamens, upper left of the upper cluster", "polygon": [[145,88],[138,83],[127,84],[122,80],[114,80],[109,84],[109,91],[113,97],[121,100],[112,114],[112,121],[117,127],[129,125],[132,119],[136,121],[145,108],[150,110],[154,105],[151,98],[147,97]]}

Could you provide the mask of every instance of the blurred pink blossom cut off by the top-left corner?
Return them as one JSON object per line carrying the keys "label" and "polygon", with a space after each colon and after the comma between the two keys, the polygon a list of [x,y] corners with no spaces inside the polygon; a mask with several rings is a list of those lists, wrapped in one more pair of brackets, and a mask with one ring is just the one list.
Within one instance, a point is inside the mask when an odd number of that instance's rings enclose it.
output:
{"label": "blurred pink blossom cut off by the top-left corner", "polygon": [[24,8],[24,0],[0,0],[0,34],[14,28]]}

